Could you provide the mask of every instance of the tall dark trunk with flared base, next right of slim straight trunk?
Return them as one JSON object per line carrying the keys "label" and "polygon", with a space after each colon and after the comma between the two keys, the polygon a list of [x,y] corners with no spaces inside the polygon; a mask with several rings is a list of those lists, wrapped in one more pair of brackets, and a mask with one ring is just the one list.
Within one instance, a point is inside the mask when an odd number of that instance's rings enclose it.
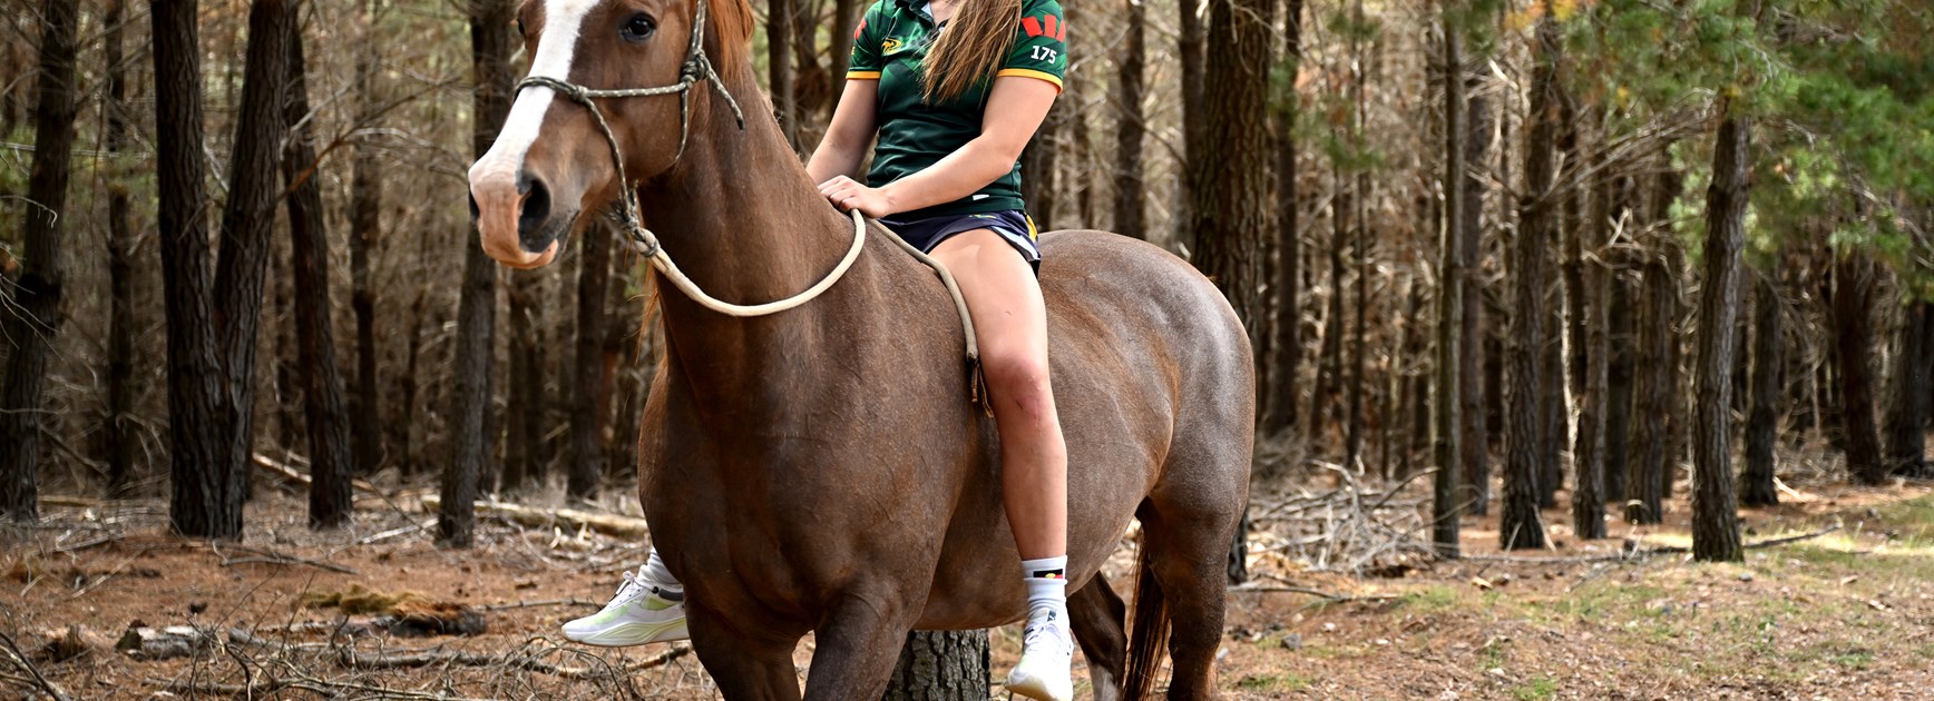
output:
{"label": "tall dark trunk with flared base, next right of slim straight trunk", "polygon": [[[1518,201],[1518,238],[1512,241],[1512,346],[1510,398],[1505,421],[1505,498],[1499,541],[1507,550],[1541,548],[1545,527],[1538,514],[1539,479],[1543,479],[1545,415],[1543,396],[1545,346],[1545,245],[1551,241],[1557,193],[1551,191],[1553,149],[1557,147],[1557,104],[1553,81],[1559,62],[1559,27],[1551,19],[1549,0],[1538,19],[1536,68],[1532,70],[1532,106],[1524,143],[1524,195]],[[1555,379],[1553,379],[1555,380]]]}

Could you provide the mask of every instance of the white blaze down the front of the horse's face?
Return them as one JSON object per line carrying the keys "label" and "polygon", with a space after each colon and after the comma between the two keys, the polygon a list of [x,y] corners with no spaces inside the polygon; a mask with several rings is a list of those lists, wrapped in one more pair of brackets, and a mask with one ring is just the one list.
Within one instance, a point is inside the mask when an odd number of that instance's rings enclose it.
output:
{"label": "white blaze down the front of the horse's face", "polygon": [[[538,37],[538,54],[530,60],[530,75],[571,81],[571,54],[578,46],[578,29],[584,15],[603,0],[545,0],[543,33]],[[516,172],[524,166],[524,153],[538,141],[543,127],[543,112],[551,108],[555,91],[549,87],[526,87],[511,104],[511,116],[503,122],[497,141],[491,143],[484,158],[470,166],[470,185],[482,180],[505,178],[516,183]],[[513,185],[514,187],[514,185]]]}

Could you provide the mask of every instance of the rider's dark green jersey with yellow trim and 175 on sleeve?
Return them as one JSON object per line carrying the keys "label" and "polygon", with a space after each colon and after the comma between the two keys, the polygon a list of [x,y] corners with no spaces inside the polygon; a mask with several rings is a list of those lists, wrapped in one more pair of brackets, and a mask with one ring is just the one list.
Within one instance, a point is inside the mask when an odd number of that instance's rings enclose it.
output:
{"label": "rider's dark green jersey with yellow trim and 175 on sleeve", "polygon": [[[940,27],[926,12],[926,0],[878,0],[853,33],[853,60],[847,79],[880,81],[880,141],[872,153],[872,187],[917,174],[981,135],[986,97],[994,87],[982,79],[953,100],[926,104],[923,81],[926,50]],[[1013,46],[994,73],[1033,77],[1060,91],[1068,71],[1068,23],[1056,0],[1023,0],[1013,27]],[[959,201],[934,205],[899,218],[942,214],[981,214],[1025,209],[1021,203],[1021,164],[1006,176]]]}

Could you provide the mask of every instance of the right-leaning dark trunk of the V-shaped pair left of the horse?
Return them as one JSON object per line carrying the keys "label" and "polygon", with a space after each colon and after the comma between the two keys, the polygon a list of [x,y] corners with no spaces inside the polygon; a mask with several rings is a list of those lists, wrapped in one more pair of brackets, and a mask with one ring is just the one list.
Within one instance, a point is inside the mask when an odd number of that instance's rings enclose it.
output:
{"label": "right-leaning dark trunk of the V-shaped pair left of the horse", "polygon": [[[255,444],[255,355],[263,286],[280,195],[277,162],[288,95],[288,37],[294,12],[286,0],[255,0],[248,14],[248,66],[234,153],[228,158],[228,203],[222,209],[220,253],[215,261],[215,321],[228,402],[224,406],[220,469],[246,491]],[[240,514],[238,531],[240,535]]]}

